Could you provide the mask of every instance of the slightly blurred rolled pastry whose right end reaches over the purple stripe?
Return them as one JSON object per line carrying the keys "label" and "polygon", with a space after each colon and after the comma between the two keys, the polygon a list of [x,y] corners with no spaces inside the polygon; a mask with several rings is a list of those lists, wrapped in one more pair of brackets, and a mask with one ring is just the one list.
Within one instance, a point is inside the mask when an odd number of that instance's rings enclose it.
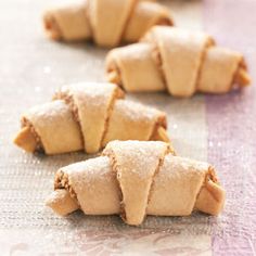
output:
{"label": "slightly blurred rolled pastry whose right end reaches over the purple stripe", "polygon": [[106,79],[127,91],[167,90],[174,97],[226,93],[251,81],[241,53],[217,47],[204,33],[167,26],[154,26],[139,43],[113,49]]}

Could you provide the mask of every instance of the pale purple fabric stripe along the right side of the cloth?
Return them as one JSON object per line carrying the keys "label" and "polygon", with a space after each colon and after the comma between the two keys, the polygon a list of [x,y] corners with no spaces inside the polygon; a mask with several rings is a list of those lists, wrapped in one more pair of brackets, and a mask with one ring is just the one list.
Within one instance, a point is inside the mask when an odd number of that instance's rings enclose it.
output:
{"label": "pale purple fabric stripe along the right side of the cloth", "polygon": [[[245,53],[256,80],[256,0],[205,0],[205,29]],[[206,97],[208,161],[227,190],[214,255],[256,255],[256,88]]]}

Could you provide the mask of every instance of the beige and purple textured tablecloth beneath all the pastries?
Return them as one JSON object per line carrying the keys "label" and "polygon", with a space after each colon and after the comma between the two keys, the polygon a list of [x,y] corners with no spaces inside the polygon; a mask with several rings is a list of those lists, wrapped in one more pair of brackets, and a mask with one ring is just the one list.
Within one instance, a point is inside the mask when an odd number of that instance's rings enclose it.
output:
{"label": "beige and purple textured tablecloth beneath all the pastries", "polygon": [[[177,25],[201,29],[204,21],[220,43],[245,52],[255,74],[255,1],[164,2]],[[132,228],[118,217],[76,213],[59,218],[44,208],[56,169],[91,156],[22,152],[12,144],[20,116],[49,101],[63,84],[103,80],[106,54],[92,44],[46,39],[40,16],[50,3],[0,1],[0,255],[254,255],[255,89],[189,100],[164,93],[129,95],[167,112],[178,154],[216,164],[228,191],[227,208],[219,218],[149,217],[142,227]]]}

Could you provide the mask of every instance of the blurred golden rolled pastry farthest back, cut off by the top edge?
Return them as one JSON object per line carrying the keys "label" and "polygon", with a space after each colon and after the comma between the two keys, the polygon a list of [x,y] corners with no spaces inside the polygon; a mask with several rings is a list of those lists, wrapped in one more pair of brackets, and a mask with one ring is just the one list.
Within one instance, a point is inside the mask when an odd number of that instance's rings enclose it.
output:
{"label": "blurred golden rolled pastry farthest back, cut off by the top edge", "polygon": [[138,0],[87,0],[49,10],[43,15],[47,34],[54,40],[93,39],[98,46],[135,42],[154,25],[172,25],[168,9]]}

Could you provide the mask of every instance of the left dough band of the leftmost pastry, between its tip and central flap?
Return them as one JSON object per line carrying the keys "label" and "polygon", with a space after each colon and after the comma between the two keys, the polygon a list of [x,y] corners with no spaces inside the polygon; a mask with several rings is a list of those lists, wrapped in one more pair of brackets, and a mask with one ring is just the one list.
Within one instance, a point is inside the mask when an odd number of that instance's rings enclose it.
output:
{"label": "left dough band of the leftmost pastry, between its tip and central flap", "polygon": [[24,117],[35,128],[47,154],[82,150],[79,126],[64,101],[31,107]]}

